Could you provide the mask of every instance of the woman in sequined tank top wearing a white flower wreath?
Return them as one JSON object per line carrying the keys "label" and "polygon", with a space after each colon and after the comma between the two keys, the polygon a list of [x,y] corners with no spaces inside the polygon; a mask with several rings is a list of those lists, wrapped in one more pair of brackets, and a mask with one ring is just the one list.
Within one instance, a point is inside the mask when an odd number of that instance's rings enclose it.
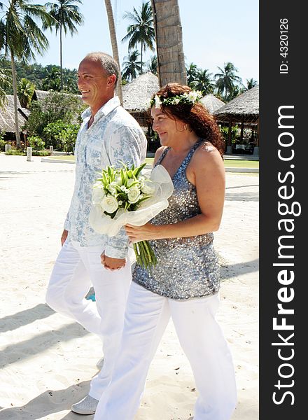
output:
{"label": "woman in sequined tank top wearing a white flower wreath", "polygon": [[134,270],[113,380],[94,420],[134,419],[170,316],[199,392],[194,419],[229,420],[235,409],[232,358],[215,320],[220,286],[212,232],[223,214],[223,141],[198,99],[190,87],[169,83],[151,101],[162,144],[154,166],[167,169],[174,193],[151,223],[126,226],[132,242],[150,241],[158,263]]}

